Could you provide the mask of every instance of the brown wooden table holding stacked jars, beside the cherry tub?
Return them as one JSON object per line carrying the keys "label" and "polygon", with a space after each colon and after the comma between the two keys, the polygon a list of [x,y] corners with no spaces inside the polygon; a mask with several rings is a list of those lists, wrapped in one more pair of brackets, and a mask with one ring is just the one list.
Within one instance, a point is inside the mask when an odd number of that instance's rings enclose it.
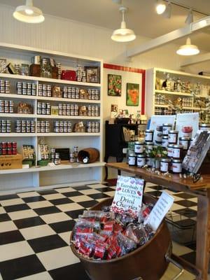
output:
{"label": "brown wooden table holding stacked jars, beside the cherry tub", "polygon": [[[155,183],[172,190],[197,195],[197,243],[196,243],[196,267],[182,261],[181,265],[190,272],[196,274],[196,280],[207,280],[209,268],[210,248],[210,175],[202,174],[202,179],[193,183],[191,178],[181,179],[179,175],[163,176],[153,174],[146,169],[130,167],[125,162],[107,163],[106,167],[112,167],[124,172],[135,174],[146,182]],[[180,258],[181,260],[181,258]],[[195,269],[193,269],[193,267]],[[200,271],[200,273],[199,273]]]}

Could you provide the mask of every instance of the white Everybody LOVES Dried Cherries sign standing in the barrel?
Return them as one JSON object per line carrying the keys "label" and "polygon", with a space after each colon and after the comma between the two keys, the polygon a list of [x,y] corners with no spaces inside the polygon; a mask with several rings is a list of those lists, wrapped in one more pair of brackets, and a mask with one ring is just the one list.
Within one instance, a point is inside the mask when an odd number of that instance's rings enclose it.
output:
{"label": "white Everybody LOVES Dried Cherries sign standing in the barrel", "polygon": [[144,191],[144,180],[127,176],[118,176],[116,193],[111,211],[126,213],[137,217],[141,209]]}

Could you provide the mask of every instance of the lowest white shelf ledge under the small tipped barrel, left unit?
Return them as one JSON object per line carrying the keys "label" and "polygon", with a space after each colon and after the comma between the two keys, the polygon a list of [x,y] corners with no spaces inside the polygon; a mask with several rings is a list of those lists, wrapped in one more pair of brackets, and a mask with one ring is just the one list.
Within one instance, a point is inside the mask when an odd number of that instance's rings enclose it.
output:
{"label": "lowest white shelf ledge under the small tipped barrel, left unit", "polygon": [[76,168],[90,168],[90,167],[103,167],[105,162],[94,162],[89,164],[82,163],[66,163],[65,165],[55,165],[55,167],[31,167],[31,168],[22,168],[22,169],[6,169],[0,170],[1,174],[15,174],[15,173],[30,173],[30,172],[46,172],[46,171],[55,171],[63,169],[76,169]]}

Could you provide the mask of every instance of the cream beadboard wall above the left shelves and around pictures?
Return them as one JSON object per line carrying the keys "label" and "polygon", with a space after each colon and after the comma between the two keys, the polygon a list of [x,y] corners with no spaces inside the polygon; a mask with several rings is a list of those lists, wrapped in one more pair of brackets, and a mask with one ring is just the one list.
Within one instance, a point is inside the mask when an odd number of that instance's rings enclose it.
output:
{"label": "cream beadboard wall above the left shelves and around pictures", "polygon": [[[59,1],[58,1],[59,4]],[[180,57],[176,55],[176,45],[165,45],[146,54],[134,57],[128,62],[123,55],[126,48],[131,48],[148,38],[139,37],[134,43],[122,44],[111,41],[113,30],[104,27],[88,25],[64,18],[45,15],[45,22],[30,25],[13,19],[13,7],[0,4],[0,40],[4,43],[27,45],[34,48],[70,52],[78,55],[99,57],[106,63],[121,64],[124,66],[148,69],[162,67],[179,69]],[[109,18],[107,20],[110,20]],[[120,22],[119,22],[120,24]],[[146,28],[146,25],[142,28]],[[0,53],[1,57],[1,53]],[[104,87],[106,89],[106,87]],[[122,108],[125,92],[122,99],[116,97],[113,101]],[[104,119],[110,114],[110,99],[104,91]],[[115,174],[111,174],[115,176]]]}

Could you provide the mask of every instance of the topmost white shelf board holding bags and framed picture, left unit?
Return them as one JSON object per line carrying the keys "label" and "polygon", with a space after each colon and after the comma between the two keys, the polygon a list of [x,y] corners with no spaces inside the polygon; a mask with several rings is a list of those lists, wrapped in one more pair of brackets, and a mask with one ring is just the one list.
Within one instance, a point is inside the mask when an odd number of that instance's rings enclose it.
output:
{"label": "topmost white shelf board holding bags and framed picture, left unit", "polygon": [[22,75],[13,75],[8,73],[0,73],[0,78],[12,78],[16,80],[31,80],[31,81],[38,81],[43,83],[59,83],[62,85],[82,85],[85,87],[101,87],[101,83],[83,83],[78,82],[76,80],[59,80],[54,78],[42,78],[42,77],[34,77],[34,76],[22,76]]}

